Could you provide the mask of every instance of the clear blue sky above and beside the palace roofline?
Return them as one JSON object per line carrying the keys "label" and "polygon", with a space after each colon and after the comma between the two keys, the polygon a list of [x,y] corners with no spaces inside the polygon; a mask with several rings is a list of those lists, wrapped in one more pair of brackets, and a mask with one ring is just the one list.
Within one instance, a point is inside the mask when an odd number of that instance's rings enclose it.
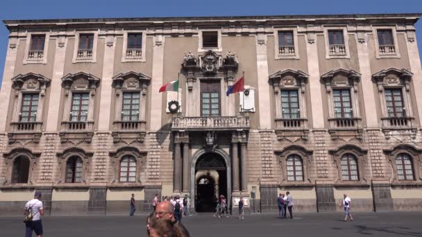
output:
{"label": "clear blue sky above and beside the palace roofline", "polygon": [[[193,17],[226,15],[319,15],[422,12],[421,0],[12,0],[0,3],[0,19],[99,17]],[[0,82],[8,30],[0,26]],[[416,24],[422,55],[422,20]]]}

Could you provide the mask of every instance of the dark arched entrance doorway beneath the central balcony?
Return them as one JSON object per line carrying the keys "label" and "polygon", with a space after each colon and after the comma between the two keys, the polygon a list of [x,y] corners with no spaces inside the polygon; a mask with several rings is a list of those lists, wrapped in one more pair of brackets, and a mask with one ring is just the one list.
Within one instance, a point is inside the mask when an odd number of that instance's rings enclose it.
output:
{"label": "dark arched entrance doorway beneath the central balcony", "polygon": [[[217,152],[203,152],[194,163],[194,208],[198,212],[211,212],[219,195],[228,197],[228,164]],[[230,200],[230,199],[228,199]]]}

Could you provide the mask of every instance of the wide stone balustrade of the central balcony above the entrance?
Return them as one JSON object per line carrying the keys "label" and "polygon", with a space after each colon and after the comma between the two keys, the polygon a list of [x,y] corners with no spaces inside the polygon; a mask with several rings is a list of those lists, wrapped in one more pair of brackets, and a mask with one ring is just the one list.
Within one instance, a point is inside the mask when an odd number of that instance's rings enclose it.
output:
{"label": "wide stone balustrade of the central balcony above the entrance", "polygon": [[216,116],[216,117],[173,117],[172,130],[233,130],[249,129],[249,117]]}

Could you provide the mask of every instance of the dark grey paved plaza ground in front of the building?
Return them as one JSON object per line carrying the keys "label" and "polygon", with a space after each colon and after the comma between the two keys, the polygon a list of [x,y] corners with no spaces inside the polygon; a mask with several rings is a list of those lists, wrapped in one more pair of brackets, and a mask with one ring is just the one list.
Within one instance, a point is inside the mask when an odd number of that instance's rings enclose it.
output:
{"label": "dark grey paved plaza ground in front of the building", "polygon": [[[47,237],[146,236],[146,216],[44,217]],[[422,236],[422,213],[355,213],[353,222],[342,221],[342,213],[298,213],[296,218],[278,219],[269,214],[237,218],[212,217],[212,213],[184,218],[191,236]],[[0,217],[0,236],[24,236],[20,217]],[[35,236],[35,234],[34,234]]]}

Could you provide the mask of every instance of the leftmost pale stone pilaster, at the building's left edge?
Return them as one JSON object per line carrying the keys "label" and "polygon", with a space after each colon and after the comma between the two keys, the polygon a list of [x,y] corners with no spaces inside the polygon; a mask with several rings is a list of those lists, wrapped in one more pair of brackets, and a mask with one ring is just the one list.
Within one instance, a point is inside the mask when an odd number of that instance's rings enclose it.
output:
{"label": "leftmost pale stone pilaster, at the building's left edge", "polygon": [[[3,80],[1,82],[0,90],[0,108],[3,109],[3,113],[8,112],[10,93],[12,92],[12,81],[10,80],[15,73],[15,64],[17,49],[19,48],[19,40],[17,39],[17,32],[10,33],[8,51],[6,53],[6,62],[4,64]],[[8,116],[0,116],[0,132],[6,131],[8,126],[6,125]]]}

